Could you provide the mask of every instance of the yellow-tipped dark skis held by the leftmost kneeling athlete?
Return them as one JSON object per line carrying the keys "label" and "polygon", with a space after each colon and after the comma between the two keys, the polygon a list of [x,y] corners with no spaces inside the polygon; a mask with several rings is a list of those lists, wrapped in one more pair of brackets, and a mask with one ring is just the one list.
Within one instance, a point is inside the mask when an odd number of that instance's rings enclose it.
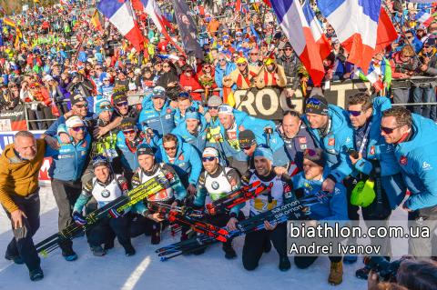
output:
{"label": "yellow-tipped dark skis held by the leftmost kneeling athlete", "polygon": [[127,207],[142,201],[147,196],[158,193],[159,190],[162,190],[167,186],[167,178],[165,178],[164,175],[158,175],[86,216],[85,226],[79,226],[76,224],[68,225],[60,232],[50,235],[45,240],[36,244],[36,251],[43,255],[47,255],[67,240],[74,239],[77,235],[83,234],[87,229],[111,218],[112,216],[109,214],[111,209],[115,208],[117,209],[117,212],[121,212],[127,209]]}

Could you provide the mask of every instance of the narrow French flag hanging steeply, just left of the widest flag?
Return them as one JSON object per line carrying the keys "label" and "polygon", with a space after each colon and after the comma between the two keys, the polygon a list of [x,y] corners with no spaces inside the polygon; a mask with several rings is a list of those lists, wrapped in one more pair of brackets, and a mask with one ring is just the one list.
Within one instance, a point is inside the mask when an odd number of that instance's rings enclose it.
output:
{"label": "narrow French flag hanging steeply, just left of the widest flag", "polygon": [[325,75],[319,48],[311,33],[298,0],[269,0],[290,45],[307,69],[314,85],[320,85]]}

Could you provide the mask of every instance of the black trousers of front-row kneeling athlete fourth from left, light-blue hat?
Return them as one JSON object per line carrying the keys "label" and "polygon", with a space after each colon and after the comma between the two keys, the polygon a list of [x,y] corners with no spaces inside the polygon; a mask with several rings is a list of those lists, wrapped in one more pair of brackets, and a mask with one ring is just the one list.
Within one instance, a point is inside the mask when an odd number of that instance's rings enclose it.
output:
{"label": "black trousers of front-row kneeling athlete fourth from left, light-blue hat", "polygon": [[287,255],[287,223],[279,224],[274,230],[262,229],[246,235],[243,246],[243,265],[246,270],[255,270],[263,252],[264,239],[269,236],[279,255]]}

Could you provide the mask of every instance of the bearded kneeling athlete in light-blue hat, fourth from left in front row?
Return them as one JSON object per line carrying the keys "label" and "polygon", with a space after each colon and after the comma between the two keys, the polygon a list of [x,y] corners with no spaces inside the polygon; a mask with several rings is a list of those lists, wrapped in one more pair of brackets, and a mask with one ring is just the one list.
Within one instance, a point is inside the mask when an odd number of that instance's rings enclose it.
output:
{"label": "bearded kneeling athlete in light-blue hat, fourth from left in front row", "polygon": [[[256,181],[264,185],[273,184],[268,195],[259,195],[250,200],[250,216],[259,215],[273,208],[293,202],[296,196],[289,175],[277,177],[273,167],[273,153],[268,148],[259,147],[254,153],[255,168],[243,175],[241,184],[246,186]],[[273,242],[279,254],[279,270],[290,270],[290,260],[287,256],[287,223],[271,225],[264,222],[264,229],[246,235],[243,246],[243,265],[246,270],[258,267],[262,253],[271,249]]]}

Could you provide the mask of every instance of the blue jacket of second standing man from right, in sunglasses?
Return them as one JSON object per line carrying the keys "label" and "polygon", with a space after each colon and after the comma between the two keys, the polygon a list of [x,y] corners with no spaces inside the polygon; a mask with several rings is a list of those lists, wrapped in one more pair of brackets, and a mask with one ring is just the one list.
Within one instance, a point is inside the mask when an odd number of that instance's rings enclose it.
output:
{"label": "blue jacket of second standing man from right, in sunglasses", "polygon": [[[382,111],[390,108],[391,103],[387,97],[379,96],[373,99],[373,117],[368,137],[367,157],[366,159],[362,158],[355,164],[352,175],[358,175],[358,171],[370,175],[373,168],[372,161],[378,160],[381,166],[381,185],[389,198],[391,209],[395,210],[398,205],[401,205],[405,197],[406,186],[403,183],[401,169],[394,155],[394,147],[388,145],[381,135]],[[356,151],[360,151],[360,148],[356,148]]]}

